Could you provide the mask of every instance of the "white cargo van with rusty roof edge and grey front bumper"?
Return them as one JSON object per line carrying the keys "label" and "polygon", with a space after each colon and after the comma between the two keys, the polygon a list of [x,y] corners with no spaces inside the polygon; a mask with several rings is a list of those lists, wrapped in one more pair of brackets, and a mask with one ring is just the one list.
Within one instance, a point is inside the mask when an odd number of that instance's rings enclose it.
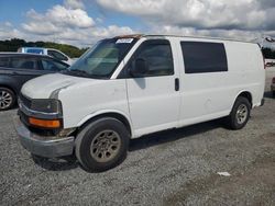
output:
{"label": "white cargo van with rusty roof edge and grey front bumper", "polygon": [[25,83],[16,130],[36,156],[75,152],[86,170],[105,171],[125,158],[131,138],[220,117],[241,129],[263,104],[264,83],[256,44],[118,36],[68,71]]}

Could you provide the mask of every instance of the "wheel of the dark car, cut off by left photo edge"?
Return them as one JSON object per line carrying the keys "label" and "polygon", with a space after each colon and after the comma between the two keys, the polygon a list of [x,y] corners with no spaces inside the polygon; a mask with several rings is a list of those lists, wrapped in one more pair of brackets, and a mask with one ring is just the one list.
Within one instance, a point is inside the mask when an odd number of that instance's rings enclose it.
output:
{"label": "wheel of the dark car, cut off by left photo edge", "polygon": [[15,94],[8,88],[0,87],[0,111],[7,111],[14,106]]}

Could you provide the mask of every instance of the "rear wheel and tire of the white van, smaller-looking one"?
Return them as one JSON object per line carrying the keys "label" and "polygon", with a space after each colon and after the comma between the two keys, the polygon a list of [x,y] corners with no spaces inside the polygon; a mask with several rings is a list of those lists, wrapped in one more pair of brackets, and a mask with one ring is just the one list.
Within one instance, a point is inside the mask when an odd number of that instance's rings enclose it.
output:
{"label": "rear wheel and tire of the white van, smaller-looking one", "polygon": [[243,128],[250,118],[251,103],[246,98],[239,96],[235,100],[233,108],[228,117],[229,127],[231,129]]}

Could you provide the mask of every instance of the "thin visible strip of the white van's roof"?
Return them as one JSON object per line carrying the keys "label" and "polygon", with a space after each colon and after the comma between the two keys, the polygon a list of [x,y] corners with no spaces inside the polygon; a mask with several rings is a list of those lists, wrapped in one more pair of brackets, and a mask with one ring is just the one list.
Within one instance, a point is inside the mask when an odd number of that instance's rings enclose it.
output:
{"label": "thin visible strip of the white van's roof", "polygon": [[251,43],[251,44],[257,44],[255,42],[250,42],[250,41],[241,41],[241,39],[234,39],[234,38],[222,38],[222,37],[211,37],[211,36],[184,36],[184,35],[173,35],[173,34],[167,34],[167,35],[162,35],[162,34],[130,34],[130,35],[121,35],[121,36],[116,36],[116,38],[142,38],[142,37],[187,37],[187,38],[198,38],[198,39],[216,39],[216,41],[231,41],[231,42],[241,42],[241,43]]}

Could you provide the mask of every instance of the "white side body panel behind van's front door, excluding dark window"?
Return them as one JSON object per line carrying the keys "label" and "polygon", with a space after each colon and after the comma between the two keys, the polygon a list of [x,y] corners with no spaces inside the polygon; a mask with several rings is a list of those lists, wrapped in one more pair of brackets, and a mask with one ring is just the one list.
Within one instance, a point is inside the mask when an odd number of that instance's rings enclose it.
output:
{"label": "white side body panel behind van's front door, excluding dark window", "polygon": [[180,41],[223,43],[228,58],[227,72],[185,73],[180,67],[180,121],[178,126],[191,125],[230,114],[237,96],[248,91],[253,106],[263,99],[265,70],[256,44],[229,41],[179,38],[179,65],[184,62]]}

